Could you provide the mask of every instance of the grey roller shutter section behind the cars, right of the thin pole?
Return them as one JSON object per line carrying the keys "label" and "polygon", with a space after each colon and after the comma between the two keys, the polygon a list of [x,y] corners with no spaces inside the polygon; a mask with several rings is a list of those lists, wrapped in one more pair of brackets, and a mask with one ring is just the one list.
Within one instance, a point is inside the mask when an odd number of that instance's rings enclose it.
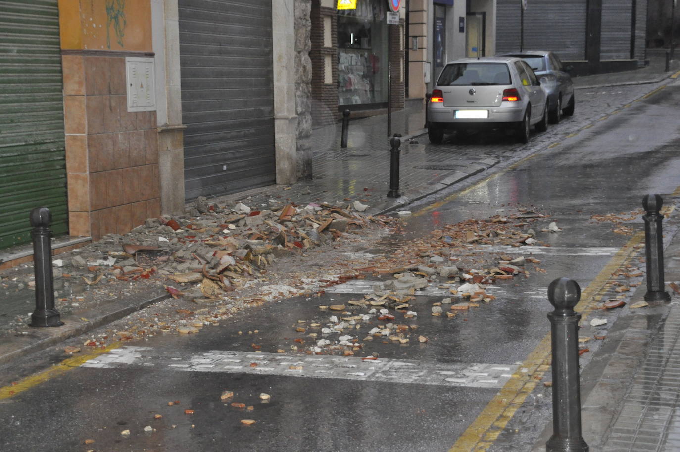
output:
{"label": "grey roller shutter section behind the cars, right of the thin pole", "polygon": [[586,0],[529,0],[524,49],[551,50],[562,61],[585,59]]}

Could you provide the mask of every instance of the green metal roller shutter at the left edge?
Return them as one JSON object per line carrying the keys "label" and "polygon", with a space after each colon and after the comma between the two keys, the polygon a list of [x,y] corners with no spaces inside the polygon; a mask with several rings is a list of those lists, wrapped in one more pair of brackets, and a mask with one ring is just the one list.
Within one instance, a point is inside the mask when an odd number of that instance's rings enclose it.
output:
{"label": "green metal roller shutter at the left edge", "polygon": [[68,229],[57,0],[0,1],[0,248],[31,241],[46,206]]}

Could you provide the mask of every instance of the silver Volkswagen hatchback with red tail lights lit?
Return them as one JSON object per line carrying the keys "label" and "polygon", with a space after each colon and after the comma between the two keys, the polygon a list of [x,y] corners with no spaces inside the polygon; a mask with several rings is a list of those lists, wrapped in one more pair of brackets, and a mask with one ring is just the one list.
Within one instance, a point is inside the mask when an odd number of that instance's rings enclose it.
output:
{"label": "silver Volkswagen hatchback with red tail lights lit", "polygon": [[427,105],[428,138],[462,129],[512,129],[520,142],[529,128],[547,130],[547,93],[519,58],[460,59],[447,63]]}

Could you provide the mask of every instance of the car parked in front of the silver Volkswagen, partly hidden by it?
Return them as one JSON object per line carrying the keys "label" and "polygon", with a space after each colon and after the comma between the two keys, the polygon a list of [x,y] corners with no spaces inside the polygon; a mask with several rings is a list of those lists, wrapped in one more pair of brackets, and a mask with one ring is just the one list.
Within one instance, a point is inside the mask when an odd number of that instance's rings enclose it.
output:
{"label": "car parked in front of the silver Volkswagen, partly hidden by it", "polygon": [[541,80],[541,85],[548,93],[548,120],[552,124],[560,122],[562,116],[574,114],[574,84],[562,61],[553,52],[532,50],[508,53],[502,57],[517,57],[526,62],[534,74]]}

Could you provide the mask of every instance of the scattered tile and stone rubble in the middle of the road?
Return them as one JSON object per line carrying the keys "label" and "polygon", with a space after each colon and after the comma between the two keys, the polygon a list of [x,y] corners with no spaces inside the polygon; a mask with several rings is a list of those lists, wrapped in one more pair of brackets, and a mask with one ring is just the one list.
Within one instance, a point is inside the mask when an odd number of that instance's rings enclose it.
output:
{"label": "scattered tile and stone rubble in the middle of the road", "polygon": [[[429,238],[401,246],[392,257],[379,258],[374,265],[360,269],[375,275],[391,274],[390,279],[376,283],[373,293],[363,298],[346,304],[319,306],[320,310],[333,314],[323,319],[299,320],[293,326],[298,337],[291,348],[307,353],[352,356],[373,340],[401,345],[408,345],[412,339],[415,342],[416,338],[418,343],[428,342],[428,338],[417,331],[418,310],[411,304],[413,297],[427,287],[449,291],[449,296],[428,306],[427,312],[449,319],[470,308],[478,308],[480,303],[492,302],[496,297],[488,293],[489,285],[517,276],[528,277],[526,264],[541,263],[522,254],[522,246],[541,244],[533,238],[534,231],[530,227],[526,231],[517,228],[528,227],[546,217],[523,210],[507,218],[467,220],[445,225],[433,231]],[[541,230],[561,231],[554,222]],[[502,254],[496,261],[488,261],[489,255],[479,249],[480,245],[512,246],[520,255]],[[464,257],[477,257],[467,259],[467,263],[479,267],[465,268]],[[279,353],[284,351],[279,349]]]}

